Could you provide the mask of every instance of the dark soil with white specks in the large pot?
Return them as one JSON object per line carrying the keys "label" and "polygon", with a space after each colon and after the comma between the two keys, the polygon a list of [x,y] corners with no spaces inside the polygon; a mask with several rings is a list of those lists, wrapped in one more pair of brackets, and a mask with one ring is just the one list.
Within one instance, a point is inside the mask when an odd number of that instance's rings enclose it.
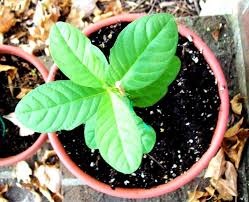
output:
{"label": "dark soil with white specks in the large pot", "polygon": [[[108,57],[124,26],[104,28],[92,34],[91,41]],[[217,83],[202,54],[186,38],[179,38],[177,55],[181,70],[167,95],[152,107],[135,109],[157,133],[154,149],[144,155],[136,172],[121,174],[105,163],[98,150],[90,150],[84,142],[83,125],[59,132],[65,150],[83,171],[113,188],[150,188],[181,175],[204,154],[218,117]]]}

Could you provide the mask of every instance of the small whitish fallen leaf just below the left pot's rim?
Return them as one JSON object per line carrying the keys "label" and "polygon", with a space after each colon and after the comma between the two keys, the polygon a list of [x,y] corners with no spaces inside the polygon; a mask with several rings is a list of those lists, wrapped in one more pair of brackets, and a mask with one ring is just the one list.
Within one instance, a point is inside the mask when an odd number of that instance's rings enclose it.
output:
{"label": "small whitish fallen leaf just below the left pot's rim", "polygon": [[26,161],[20,161],[16,164],[14,169],[14,177],[18,182],[30,183],[32,170]]}

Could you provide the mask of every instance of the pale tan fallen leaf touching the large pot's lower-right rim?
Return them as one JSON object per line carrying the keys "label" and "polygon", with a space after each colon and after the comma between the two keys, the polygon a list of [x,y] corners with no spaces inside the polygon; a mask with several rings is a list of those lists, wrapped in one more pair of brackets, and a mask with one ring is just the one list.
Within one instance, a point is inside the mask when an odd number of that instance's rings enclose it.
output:
{"label": "pale tan fallen leaf touching the large pot's lower-right rim", "polygon": [[204,178],[212,178],[218,180],[225,172],[225,165],[225,155],[223,149],[221,148],[215,155],[215,157],[211,159],[205,172]]}

